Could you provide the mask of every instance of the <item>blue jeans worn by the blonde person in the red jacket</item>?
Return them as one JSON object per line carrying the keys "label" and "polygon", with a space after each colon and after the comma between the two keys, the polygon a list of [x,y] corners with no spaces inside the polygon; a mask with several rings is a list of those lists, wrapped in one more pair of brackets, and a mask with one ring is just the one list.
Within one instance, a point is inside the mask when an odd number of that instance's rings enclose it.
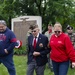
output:
{"label": "blue jeans worn by the blonde person in the red jacket", "polygon": [[66,62],[55,62],[52,61],[54,75],[67,75],[69,68],[69,61]]}

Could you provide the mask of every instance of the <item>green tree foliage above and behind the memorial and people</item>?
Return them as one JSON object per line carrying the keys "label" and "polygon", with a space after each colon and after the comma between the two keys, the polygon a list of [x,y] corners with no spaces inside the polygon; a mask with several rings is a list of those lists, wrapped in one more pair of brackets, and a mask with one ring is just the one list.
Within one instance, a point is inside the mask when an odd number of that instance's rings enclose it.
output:
{"label": "green tree foliage above and behind the memorial and people", "polygon": [[1,0],[0,11],[0,18],[6,20],[8,26],[13,17],[23,15],[41,16],[43,31],[49,22],[58,21],[63,29],[75,24],[75,0]]}

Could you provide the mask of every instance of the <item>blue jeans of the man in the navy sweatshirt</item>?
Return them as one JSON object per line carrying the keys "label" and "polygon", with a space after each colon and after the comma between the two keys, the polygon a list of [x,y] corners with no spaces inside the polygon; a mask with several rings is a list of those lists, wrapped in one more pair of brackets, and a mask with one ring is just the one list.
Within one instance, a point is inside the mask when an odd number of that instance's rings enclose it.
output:
{"label": "blue jeans of the man in the navy sweatshirt", "polygon": [[15,67],[13,63],[13,55],[0,57],[0,62],[7,68],[9,75],[16,75]]}

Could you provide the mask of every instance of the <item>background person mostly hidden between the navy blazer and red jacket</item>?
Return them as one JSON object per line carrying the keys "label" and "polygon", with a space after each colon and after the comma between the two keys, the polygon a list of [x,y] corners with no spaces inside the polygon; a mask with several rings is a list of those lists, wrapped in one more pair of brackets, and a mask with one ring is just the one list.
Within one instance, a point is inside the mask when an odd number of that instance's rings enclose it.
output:
{"label": "background person mostly hidden between the navy blazer and red jacket", "polygon": [[[45,35],[48,37],[48,41],[50,40],[51,35],[53,34],[52,24],[48,24],[48,31],[45,32]],[[53,71],[52,60],[50,59],[50,53],[47,55],[48,58],[48,67],[51,71]]]}

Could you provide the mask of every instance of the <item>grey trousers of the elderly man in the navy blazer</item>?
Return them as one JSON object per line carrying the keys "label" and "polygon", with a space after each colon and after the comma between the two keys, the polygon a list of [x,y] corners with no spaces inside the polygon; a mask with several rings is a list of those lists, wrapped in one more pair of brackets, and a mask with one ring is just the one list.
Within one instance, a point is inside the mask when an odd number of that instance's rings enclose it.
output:
{"label": "grey trousers of the elderly man in the navy blazer", "polygon": [[36,75],[44,75],[45,65],[37,66],[36,61],[33,60],[30,64],[28,64],[27,75],[33,75],[34,70]]}

